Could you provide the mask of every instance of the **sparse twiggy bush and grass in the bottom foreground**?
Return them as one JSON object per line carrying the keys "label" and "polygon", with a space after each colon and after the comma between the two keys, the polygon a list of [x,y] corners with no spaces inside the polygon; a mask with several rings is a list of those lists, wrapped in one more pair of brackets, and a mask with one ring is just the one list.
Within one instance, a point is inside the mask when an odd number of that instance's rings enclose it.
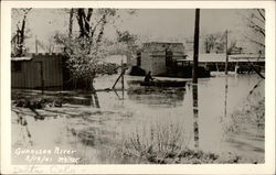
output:
{"label": "sparse twiggy bush and grass in the bottom foreground", "polygon": [[153,164],[202,164],[240,163],[234,154],[219,155],[201,150],[188,149],[189,139],[184,138],[179,124],[150,125],[148,134],[132,133],[126,141],[124,155],[136,157],[144,163]]}

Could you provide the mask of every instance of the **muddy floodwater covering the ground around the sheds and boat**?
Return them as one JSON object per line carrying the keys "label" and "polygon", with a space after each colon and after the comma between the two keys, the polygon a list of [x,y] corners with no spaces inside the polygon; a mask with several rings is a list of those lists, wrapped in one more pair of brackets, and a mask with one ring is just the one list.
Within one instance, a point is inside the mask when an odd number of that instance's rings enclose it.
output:
{"label": "muddy floodwater covering the ground around the sheds and boat", "polygon": [[[95,88],[110,88],[117,76],[97,78]],[[183,88],[155,88],[141,87],[137,79],[141,77],[126,76],[124,91],[120,84],[116,91],[98,91],[95,95],[77,90],[45,91],[44,96],[59,96],[64,103],[62,108],[38,109],[43,119],[35,119],[35,113],[29,109],[12,107],[13,163],[33,163],[23,152],[17,153],[18,147],[51,150],[49,157],[52,160],[39,162],[43,164],[74,163],[74,157],[81,164],[140,163],[119,158],[121,149],[117,149],[124,147],[126,141],[136,134],[150,136],[149,131],[158,130],[160,125],[178,128],[183,146],[217,154],[236,154],[248,163],[264,162],[264,123],[256,123],[261,119],[255,120],[258,117],[251,112],[251,106],[257,108],[256,102],[265,97],[265,81],[256,75],[200,78],[197,120],[194,86],[190,81]],[[251,92],[255,85],[257,87]],[[39,90],[14,89],[12,94],[41,96]],[[17,123],[19,113],[23,113],[26,125]],[[198,134],[198,141],[194,134]],[[66,162],[59,160],[55,149],[75,152],[66,155],[72,156]]]}

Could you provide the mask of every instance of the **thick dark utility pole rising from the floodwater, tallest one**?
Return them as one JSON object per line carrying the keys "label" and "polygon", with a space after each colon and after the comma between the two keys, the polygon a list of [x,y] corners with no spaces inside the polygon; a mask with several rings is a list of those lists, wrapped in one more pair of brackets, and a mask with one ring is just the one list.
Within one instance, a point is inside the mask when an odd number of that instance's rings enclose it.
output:
{"label": "thick dark utility pole rising from the floodwater, tallest one", "polygon": [[192,72],[193,84],[198,83],[199,36],[200,36],[200,9],[195,9],[194,39],[193,39],[193,72]]}

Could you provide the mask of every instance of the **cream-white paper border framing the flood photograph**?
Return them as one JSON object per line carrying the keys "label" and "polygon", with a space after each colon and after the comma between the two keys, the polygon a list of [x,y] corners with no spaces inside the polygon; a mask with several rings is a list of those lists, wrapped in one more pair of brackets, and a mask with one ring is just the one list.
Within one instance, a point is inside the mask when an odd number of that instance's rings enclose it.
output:
{"label": "cream-white paper border framing the flood photograph", "polygon": [[2,1],[1,2],[1,173],[38,174],[11,165],[10,36],[11,8],[248,9],[266,10],[265,164],[204,165],[38,165],[43,174],[275,174],[275,2],[274,1]]}

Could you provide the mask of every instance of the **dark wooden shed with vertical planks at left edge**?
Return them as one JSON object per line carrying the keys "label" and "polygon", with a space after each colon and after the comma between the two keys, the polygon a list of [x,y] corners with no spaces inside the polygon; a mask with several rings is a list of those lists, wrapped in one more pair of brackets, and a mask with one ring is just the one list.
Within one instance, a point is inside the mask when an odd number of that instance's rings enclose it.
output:
{"label": "dark wooden shed with vertical planks at left edge", "polygon": [[11,87],[41,88],[63,86],[62,55],[30,54],[11,57]]}

